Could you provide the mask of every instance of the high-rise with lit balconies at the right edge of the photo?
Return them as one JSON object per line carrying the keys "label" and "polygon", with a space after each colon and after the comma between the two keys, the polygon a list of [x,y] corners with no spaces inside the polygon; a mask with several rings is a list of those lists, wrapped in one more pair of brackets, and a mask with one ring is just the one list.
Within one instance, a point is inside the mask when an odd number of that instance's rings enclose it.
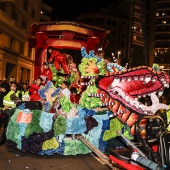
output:
{"label": "high-rise with lit balconies at the right edge of the photo", "polygon": [[155,1],[154,62],[170,74],[170,1]]}

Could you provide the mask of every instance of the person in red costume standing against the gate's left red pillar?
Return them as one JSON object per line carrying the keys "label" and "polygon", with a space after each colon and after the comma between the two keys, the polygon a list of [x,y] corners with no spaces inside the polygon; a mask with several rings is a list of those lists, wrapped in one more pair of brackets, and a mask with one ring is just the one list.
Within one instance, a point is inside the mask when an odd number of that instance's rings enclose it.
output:
{"label": "person in red costume standing against the gate's left red pillar", "polygon": [[51,69],[49,68],[49,63],[47,62],[44,62],[43,63],[43,72],[42,74],[40,75],[40,77],[42,78],[42,85],[45,86],[45,84],[47,83],[47,81],[52,81],[52,71]]}

